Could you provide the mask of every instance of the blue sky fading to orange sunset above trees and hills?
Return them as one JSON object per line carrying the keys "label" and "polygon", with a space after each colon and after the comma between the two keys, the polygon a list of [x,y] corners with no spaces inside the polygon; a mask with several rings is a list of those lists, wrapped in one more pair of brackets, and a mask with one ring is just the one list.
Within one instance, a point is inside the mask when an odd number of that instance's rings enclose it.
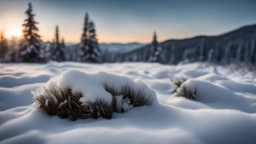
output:
{"label": "blue sky fading to orange sunset above trees and hills", "polygon": [[256,0],[0,0],[0,30],[22,35],[32,2],[43,41],[53,41],[58,24],[65,42],[80,42],[85,13],[95,22],[99,42],[150,42],[219,35],[256,24]]}

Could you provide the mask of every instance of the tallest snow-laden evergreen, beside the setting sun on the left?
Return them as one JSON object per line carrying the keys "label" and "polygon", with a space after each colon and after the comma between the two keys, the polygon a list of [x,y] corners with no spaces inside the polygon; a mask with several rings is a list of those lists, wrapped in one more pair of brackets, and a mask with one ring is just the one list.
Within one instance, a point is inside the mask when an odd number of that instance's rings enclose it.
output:
{"label": "tallest snow-laden evergreen, beside the setting sun on the left", "polygon": [[43,62],[43,46],[41,45],[39,29],[35,24],[35,14],[32,13],[32,4],[28,3],[28,10],[25,12],[28,19],[24,20],[24,39],[20,43],[20,61],[24,62]]}

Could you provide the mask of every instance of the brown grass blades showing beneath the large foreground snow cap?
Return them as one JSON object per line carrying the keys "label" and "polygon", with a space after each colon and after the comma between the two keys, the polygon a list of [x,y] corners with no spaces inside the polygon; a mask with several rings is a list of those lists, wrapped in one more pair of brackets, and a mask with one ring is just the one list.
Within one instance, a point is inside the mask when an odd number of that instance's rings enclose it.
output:
{"label": "brown grass blades showing beneath the large foreground snow cap", "polygon": [[43,109],[50,116],[57,115],[62,119],[71,118],[72,120],[99,117],[111,119],[113,113],[125,113],[132,107],[151,105],[154,98],[148,96],[143,89],[135,90],[125,85],[121,90],[107,84],[104,88],[113,97],[111,102],[97,98],[95,102],[80,102],[83,97],[81,92],[73,92],[71,88],[54,87],[47,90],[44,87],[43,94],[35,94],[35,103],[39,109]]}

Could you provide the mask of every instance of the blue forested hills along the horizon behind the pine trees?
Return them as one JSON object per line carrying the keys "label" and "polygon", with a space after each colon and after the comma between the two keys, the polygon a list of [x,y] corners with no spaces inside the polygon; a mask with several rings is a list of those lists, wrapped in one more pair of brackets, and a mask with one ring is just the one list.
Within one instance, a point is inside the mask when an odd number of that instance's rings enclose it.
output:
{"label": "blue forested hills along the horizon behind the pine trees", "polygon": [[[250,62],[256,39],[256,24],[228,31],[221,35],[200,35],[188,39],[169,39],[160,42],[165,64],[178,64],[180,61],[199,61],[200,49],[206,46],[206,61],[227,64],[232,61]],[[150,44],[100,43],[102,59],[105,62],[147,61],[150,57]],[[76,61],[79,44],[67,45],[69,61]],[[256,56],[255,56],[256,57]]]}

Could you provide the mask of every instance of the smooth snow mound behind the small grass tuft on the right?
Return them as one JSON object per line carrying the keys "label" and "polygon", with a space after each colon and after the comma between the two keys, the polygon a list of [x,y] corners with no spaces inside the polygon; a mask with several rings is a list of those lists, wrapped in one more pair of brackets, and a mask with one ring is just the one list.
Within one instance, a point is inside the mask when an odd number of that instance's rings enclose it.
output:
{"label": "smooth snow mound behind the small grass tuft on the right", "polygon": [[198,79],[188,79],[180,86],[187,87],[194,93],[195,100],[214,109],[236,109],[246,113],[256,113],[256,98],[247,98],[236,94],[226,87]]}

